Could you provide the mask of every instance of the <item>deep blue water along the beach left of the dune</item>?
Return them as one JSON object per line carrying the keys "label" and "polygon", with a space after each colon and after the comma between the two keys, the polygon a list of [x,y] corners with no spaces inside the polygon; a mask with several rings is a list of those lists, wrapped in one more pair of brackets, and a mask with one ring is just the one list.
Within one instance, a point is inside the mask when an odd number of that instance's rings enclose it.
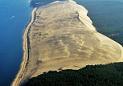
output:
{"label": "deep blue water along the beach left of the dune", "polygon": [[28,0],[0,0],[0,86],[10,86],[19,69],[31,10]]}

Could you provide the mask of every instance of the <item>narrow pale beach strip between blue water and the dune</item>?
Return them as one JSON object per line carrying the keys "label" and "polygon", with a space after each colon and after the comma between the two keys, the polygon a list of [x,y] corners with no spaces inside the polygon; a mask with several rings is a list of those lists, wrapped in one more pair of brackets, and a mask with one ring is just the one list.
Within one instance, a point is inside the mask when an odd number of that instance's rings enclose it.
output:
{"label": "narrow pale beach strip between blue water and the dune", "polygon": [[20,69],[18,71],[18,73],[16,74],[15,79],[13,80],[11,86],[19,86],[20,81],[23,79],[23,75],[25,72],[25,67],[26,64],[28,62],[28,43],[27,43],[27,35],[28,35],[28,30],[30,29],[31,24],[34,21],[35,18],[35,12],[36,12],[37,8],[34,8],[32,10],[32,14],[31,14],[31,20],[29,22],[29,24],[27,25],[24,33],[23,33],[23,57],[22,57],[22,62],[20,64]]}

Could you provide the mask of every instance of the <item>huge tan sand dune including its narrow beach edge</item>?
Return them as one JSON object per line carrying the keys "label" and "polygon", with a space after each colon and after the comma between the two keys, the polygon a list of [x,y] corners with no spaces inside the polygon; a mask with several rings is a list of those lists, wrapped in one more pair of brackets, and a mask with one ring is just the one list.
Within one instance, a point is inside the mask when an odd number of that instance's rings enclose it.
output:
{"label": "huge tan sand dune including its narrow beach edge", "polygon": [[24,34],[23,62],[13,86],[49,70],[123,61],[122,46],[98,33],[87,13],[71,0],[53,2],[33,12]]}

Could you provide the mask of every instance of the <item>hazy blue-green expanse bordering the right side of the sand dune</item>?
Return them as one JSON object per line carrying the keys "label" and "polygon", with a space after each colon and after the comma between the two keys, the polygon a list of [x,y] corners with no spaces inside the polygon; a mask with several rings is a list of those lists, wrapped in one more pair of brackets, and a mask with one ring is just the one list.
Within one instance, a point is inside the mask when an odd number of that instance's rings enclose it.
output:
{"label": "hazy blue-green expanse bordering the right side of the sand dune", "polygon": [[96,29],[123,45],[123,0],[77,0],[84,5]]}

